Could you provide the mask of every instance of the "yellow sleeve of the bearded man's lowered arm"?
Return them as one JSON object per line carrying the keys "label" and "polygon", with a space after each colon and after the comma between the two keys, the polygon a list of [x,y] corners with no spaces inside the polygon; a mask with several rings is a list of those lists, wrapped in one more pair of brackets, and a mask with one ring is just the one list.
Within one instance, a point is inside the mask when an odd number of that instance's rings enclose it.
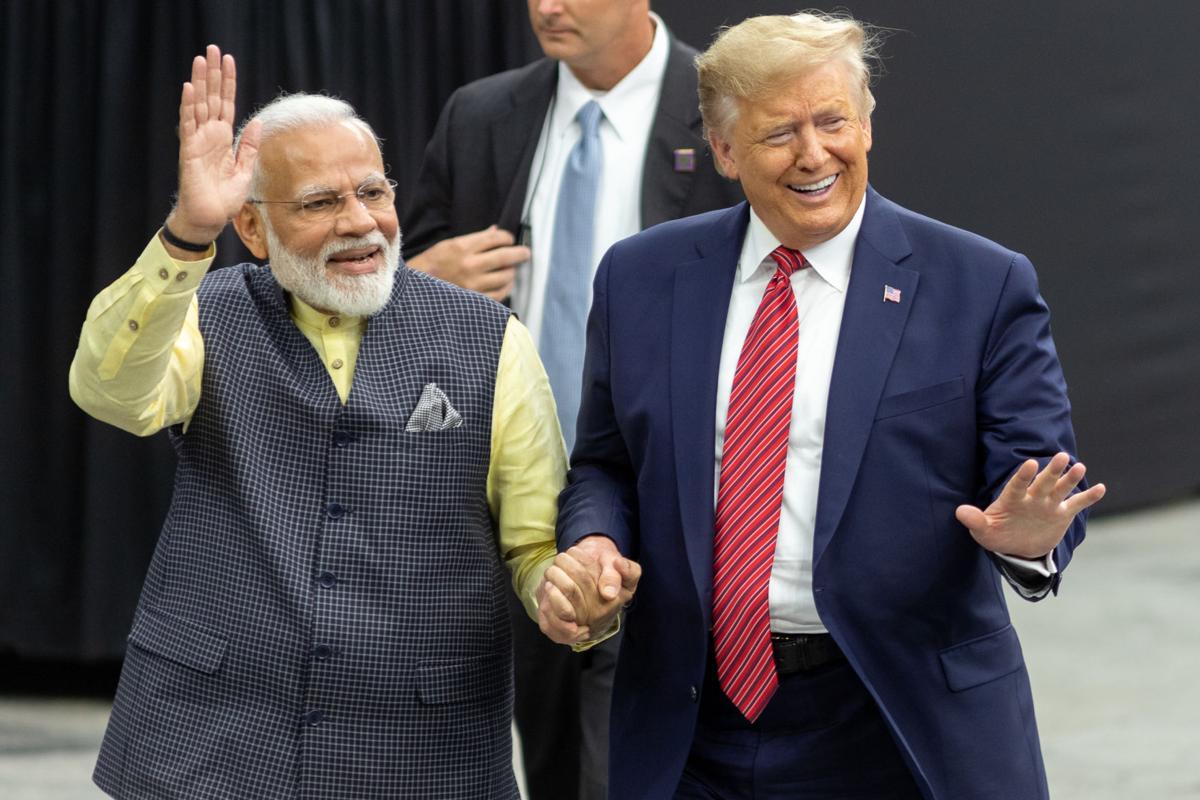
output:
{"label": "yellow sleeve of the bearded man's lowered arm", "polygon": [[554,560],[558,493],[565,481],[566,446],[550,380],[528,329],[511,317],[496,372],[487,505],[512,588],[532,619],[538,619],[538,584]]}

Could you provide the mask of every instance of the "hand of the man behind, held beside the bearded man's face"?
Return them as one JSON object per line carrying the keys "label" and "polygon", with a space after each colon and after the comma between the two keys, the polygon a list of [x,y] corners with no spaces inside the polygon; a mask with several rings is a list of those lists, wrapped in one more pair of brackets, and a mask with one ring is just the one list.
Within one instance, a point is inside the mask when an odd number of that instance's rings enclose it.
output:
{"label": "hand of the man behind, held beside the bearded man's face", "polygon": [[529,260],[529,248],[515,245],[496,225],[439,241],[408,259],[408,265],[464,289],[504,300],[512,294],[517,264]]}

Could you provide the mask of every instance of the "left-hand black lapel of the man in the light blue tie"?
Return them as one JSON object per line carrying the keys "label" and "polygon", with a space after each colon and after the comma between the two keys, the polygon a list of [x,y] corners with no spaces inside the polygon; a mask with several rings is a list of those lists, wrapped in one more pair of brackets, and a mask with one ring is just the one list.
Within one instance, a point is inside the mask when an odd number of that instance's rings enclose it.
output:
{"label": "left-hand black lapel of the man in the light blue tie", "polygon": [[521,227],[529,170],[557,83],[558,61],[539,61],[512,89],[512,110],[496,125],[492,163],[497,186],[505,192],[497,223],[505,230],[516,233]]}

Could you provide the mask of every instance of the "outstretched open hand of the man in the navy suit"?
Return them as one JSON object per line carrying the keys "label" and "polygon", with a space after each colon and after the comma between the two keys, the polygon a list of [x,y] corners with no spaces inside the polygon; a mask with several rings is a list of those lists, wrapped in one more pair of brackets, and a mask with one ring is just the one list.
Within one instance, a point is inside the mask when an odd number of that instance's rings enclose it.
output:
{"label": "outstretched open hand of the man in the navy suit", "polygon": [[1103,483],[1072,494],[1086,468],[1078,463],[1067,469],[1069,463],[1070,457],[1061,452],[1038,473],[1038,463],[1030,459],[985,510],[961,505],[954,516],[980,547],[992,553],[1039,559],[1058,545],[1075,515],[1104,497]]}

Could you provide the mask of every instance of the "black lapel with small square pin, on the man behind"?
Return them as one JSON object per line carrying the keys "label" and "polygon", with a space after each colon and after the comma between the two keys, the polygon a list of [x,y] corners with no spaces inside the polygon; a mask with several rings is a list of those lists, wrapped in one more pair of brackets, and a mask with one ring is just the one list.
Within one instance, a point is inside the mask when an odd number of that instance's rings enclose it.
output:
{"label": "black lapel with small square pin, on the man behind", "polygon": [[676,169],[676,150],[691,148],[696,167],[707,157],[696,104],[694,55],[672,38],[642,168],[642,228],[683,216],[696,173]]}

